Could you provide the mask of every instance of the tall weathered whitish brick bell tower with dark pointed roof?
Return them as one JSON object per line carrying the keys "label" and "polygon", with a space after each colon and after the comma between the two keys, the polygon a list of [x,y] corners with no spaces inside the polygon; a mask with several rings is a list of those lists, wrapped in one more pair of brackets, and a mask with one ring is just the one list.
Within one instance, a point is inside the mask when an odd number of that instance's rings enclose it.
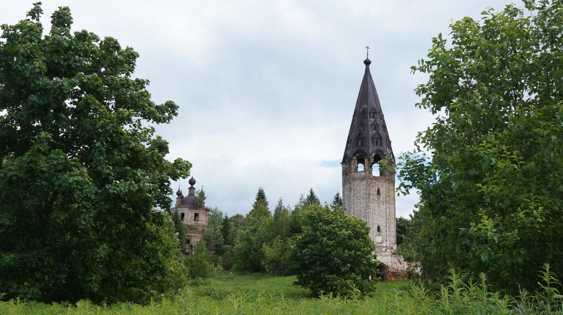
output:
{"label": "tall weathered whitish brick bell tower with dark pointed roof", "polygon": [[342,158],[342,200],[346,214],[367,222],[381,261],[396,250],[395,170],[380,172],[379,163],[386,160],[392,166],[395,156],[369,71],[371,63],[369,58],[364,60],[364,77]]}

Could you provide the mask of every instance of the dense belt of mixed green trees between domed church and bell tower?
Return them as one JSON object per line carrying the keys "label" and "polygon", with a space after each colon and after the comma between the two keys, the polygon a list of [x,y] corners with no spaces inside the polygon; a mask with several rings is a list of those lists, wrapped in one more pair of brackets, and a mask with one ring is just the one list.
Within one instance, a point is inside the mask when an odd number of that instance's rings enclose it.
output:
{"label": "dense belt of mixed green trees between domed church and bell tower", "polygon": [[[331,206],[321,206],[311,188],[293,208],[284,206],[280,198],[272,213],[260,188],[245,216],[229,217],[218,208],[208,208],[204,238],[196,244],[195,255],[186,257],[189,275],[209,277],[210,268],[297,275],[296,285],[309,287],[315,294],[369,294],[377,282],[373,277],[378,264],[375,246],[365,222],[346,216],[341,204],[337,193]],[[186,227],[177,212],[173,218],[181,246]],[[207,244],[207,250],[202,244]]]}

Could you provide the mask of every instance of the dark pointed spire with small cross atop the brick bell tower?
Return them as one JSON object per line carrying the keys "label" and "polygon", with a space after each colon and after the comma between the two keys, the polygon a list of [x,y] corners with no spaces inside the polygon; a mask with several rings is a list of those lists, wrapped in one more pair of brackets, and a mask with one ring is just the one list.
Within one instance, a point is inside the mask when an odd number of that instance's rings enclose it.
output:
{"label": "dark pointed spire with small cross atop the brick bell tower", "polygon": [[[369,46],[366,48],[369,49]],[[364,60],[364,77],[361,81],[358,100],[354,108],[342,163],[351,157],[357,156],[359,153],[363,154],[364,157],[373,157],[376,154],[379,155],[379,158],[389,156],[392,162],[395,161],[391,140],[387,133],[387,124],[383,118],[383,111],[381,110],[372,74],[369,71],[371,63],[372,61],[369,58]]]}

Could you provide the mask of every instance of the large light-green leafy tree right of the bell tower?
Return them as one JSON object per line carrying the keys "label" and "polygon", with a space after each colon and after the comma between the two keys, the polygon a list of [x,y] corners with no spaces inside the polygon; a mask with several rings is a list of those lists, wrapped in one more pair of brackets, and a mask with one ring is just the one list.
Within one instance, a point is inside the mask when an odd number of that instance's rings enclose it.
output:
{"label": "large light-green leafy tree right of the bell tower", "polygon": [[563,3],[524,3],[432,40],[413,71],[436,121],[400,171],[420,191],[425,275],[486,272],[512,293],[537,289],[544,263],[563,274]]}

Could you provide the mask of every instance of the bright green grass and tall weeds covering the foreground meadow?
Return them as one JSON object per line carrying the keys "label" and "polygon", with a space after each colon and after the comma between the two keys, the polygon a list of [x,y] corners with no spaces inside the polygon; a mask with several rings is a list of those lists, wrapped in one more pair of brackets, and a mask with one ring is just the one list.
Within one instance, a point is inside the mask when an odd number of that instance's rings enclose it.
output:
{"label": "bright green grass and tall weeds covering the foreground meadow", "polygon": [[[560,282],[548,266],[540,276],[541,292],[530,294],[522,290],[519,296],[513,297],[491,291],[485,275],[481,275],[479,283],[466,283],[454,271],[448,276],[449,284],[436,291],[417,282],[408,282],[399,289],[390,288],[396,282],[387,282],[390,285],[383,282],[378,290],[387,286],[385,292],[364,299],[354,296],[341,299],[333,295],[310,298],[303,293],[288,296],[283,290],[271,291],[284,286],[288,289],[287,284],[293,281],[291,277],[223,275],[218,278],[186,287],[174,299],[164,298],[148,305],[10,300],[0,302],[0,314],[563,314],[563,296],[556,289]],[[218,297],[198,293],[199,289],[213,285],[220,289],[221,284],[225,284],[229,294]],[[243,290],[244,287],[252,289]]]}

